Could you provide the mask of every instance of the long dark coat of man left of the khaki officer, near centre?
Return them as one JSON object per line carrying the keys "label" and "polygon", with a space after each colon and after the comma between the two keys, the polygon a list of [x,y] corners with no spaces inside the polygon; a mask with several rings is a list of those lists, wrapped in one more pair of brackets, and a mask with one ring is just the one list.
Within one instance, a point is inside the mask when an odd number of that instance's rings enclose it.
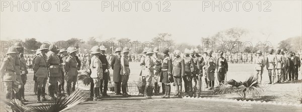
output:
{"label": "long dark coat of man left of the khaki officer, near centre", "polygon": [[111,68],[113,69],[113,81],[120,82],[121,81],[121,56],[115,55],[111,59]]}

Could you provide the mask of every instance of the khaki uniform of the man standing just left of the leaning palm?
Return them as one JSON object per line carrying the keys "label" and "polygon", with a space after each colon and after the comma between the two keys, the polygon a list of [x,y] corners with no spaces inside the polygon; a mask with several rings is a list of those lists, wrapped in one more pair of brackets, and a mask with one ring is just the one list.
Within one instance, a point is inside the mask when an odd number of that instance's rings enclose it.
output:
{"label": "khaki uniform of the man standing just left of the leaning palm", "polygon": [[[75,83],[77,83],[77,76],[78,76],[78,70],[77,70],[78,62],[75,60],[75,57],[68,56],[65,62],[65,75],[67,76],[67,94],[70,94],[70,88],[72,91],[75,90]],[[71,86],[72,83],[72,86]]]}

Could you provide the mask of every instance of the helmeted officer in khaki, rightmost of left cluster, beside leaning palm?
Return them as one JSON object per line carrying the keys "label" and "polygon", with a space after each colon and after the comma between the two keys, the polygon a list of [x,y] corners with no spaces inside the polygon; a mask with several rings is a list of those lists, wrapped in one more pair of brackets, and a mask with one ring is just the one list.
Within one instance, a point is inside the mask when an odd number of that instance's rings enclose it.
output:
{"label": "helmeted officer in khaki, rightmost of left cluster, beside leaning palm", "polygon": [[[75,90],[75,83],[77,83],[77,76],[78,76],[78,62],[75,59],[75,54],[77,54],[77,49],[74,47],[68,47],[67,52],[69,53],[69,56],[66,58],[65,62],[65,75],[67,76],[67,88],[66,92],[68,95],[70,95],[71,92]],[[72,85],[71,85],[72,83]],[[71,88],[71,90],[70,90]]]}

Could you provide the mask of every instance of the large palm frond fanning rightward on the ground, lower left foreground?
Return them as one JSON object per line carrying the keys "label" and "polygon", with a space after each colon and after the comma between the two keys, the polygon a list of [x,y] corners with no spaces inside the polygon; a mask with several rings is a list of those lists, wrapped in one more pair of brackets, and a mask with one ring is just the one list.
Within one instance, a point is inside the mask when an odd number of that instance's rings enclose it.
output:
{"label": "large palm frond fanning rightward on the ground, lower left foreground", "polygon": [[75,90],[68,97],[59,97],[54,102],[49,102],[48,104],[43,104],[42,106],[32,107],[31,111],[64,111],[73,107],[86,99],[83,97],[84,93],[80,93],[79,90]]}

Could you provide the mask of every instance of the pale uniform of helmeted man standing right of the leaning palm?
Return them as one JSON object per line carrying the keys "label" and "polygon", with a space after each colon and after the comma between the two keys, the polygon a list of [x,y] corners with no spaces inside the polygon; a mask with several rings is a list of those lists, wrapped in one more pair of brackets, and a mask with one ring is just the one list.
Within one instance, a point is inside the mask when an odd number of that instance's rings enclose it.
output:
{"label": "pale uniform of helmeted man standing right of the leaning palm", "polygon": [[90,69],[90,77],[93,78],[94,87],[100,87],[100,80],[103,79],[103,70],[102,62],[96,55],[91,58]]}

